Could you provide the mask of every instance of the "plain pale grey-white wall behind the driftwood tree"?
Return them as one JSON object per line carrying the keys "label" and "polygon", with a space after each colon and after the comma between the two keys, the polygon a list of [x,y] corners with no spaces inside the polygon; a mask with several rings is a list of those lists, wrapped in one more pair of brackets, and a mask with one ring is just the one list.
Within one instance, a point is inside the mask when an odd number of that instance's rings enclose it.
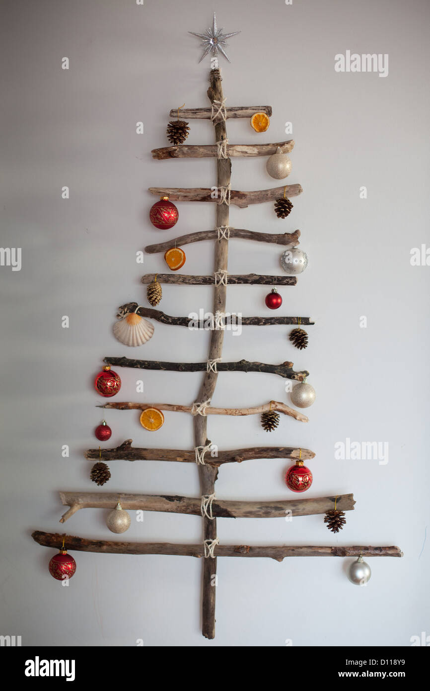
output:
{"label": "plain pale grey-white wall behind the driftwood tree", "polygon": [[[162,272],[162,255],[135,262],[135,252],[214,225],[212,205],[180,204],[173,231],[148,221],[155,185],[215,182],[215,162],[156,162],[167,144],[170,108],[206,106],[209,59],[198,64],[202,31],[213,9],[219,25],[242,30],[221,62],[229,105],[271,104],[266,134],[246,120],[228,122],[231,142],[289,138],[289,182],[304,193],[291,216],[271,204],[231,209],[231,225],[302,231],[309,253],[297,286],[282,289],[280,314],[313,316],[310,345],[296,351],[289,328],[226,333],[224,359],[293,359],[311,372],[317,400],[307,425],[282,419],[268,439],[257,417],[211,417],[219,448],[285,444],[311,448],[314,481],[307,496],[353,492],[357,504],[338,536],[322,516],[219,520],[224,543],[252,545],[399,545],[403,559],[369,558],[368,587],[354,587],[349,560],[219,559],[217,636],[200,634],[202,564],[192,558],[75,552],[77,574],[61,587],[48,574],[54,553],[32,542],[33,529],[115,539],[106,512],[84,510],[64,527],[59,490],[93,491],[86,448],[97,446],[101,400],[92,377],[106,355],[126,348],[112,334],[117,306],[145,303],[143,272]],[[6,1],[2,3],[1,111],[3,247],[22,248],[22,269],[0,268],[1,285],[1,634],[23,645],[410,645],[430,633],[425,567],[428,513],[429,267],[413,267],[411,247],[428,237],[428,64],[425,0],[347,1],[145,0]],[[335,73],[346,50],[388,53],[389,76]],[[61,70],[61,58],[70,69]],[[144,122],[144,135],[135,123]],[[188,143],[212,143],[208,122],[191,121]],[[233,160],[234,189],[273,187],[265,160]],[[70,199],[61,199],[61,187]],[[359,198],[360,186],[368,189]],[[213,270],[211,243],[186,248],[184,272]],[[234,240],[233,273],[280,272],[281,249]],[[211,309],[211,289],[165,286],[162,308],[184,315]],[[265,287],[228,288],[228,309],[267,314]],[[61,328],[61,316],[70,328]],[[360,316],[368,327],[360,328]],[[206,359],[209,336],[155,324],[135,357]],[[121,370],[120,400],[190,404],[202,375]],[[274,375],[220,375],[216,406],[289,401]],[[108,411],[111,444],[193,448],[192,420],[166,414],[157,434],[133,412]],[[335,442],[389,442],[389,462],[338,461]],[[70,445],[70,457],[61,446]],[[292,498],[283,483],[289,463],[255,460],[222,467],[219,498]],[[191,464],[113,462],[103,489],[199,495]],[[100,489],[100,491],[103,491]],[[146,513],[126,538],[197,542],[197,517]],[[65,623],[66,622],[66,623]]]}

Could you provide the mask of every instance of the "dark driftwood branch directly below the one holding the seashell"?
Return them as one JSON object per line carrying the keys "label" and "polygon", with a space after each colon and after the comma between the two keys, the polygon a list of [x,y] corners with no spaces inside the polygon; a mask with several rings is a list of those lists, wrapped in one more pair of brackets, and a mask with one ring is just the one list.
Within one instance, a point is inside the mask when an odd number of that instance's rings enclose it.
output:
{"label": "dark driftwood branch directly below the one holding the seashell", "polygon": [[[205,372],[206,362],[163,362],[159,360],[133,360],[129,357],[105,357],[106,365],[115,367],[133,367],[139,370],[163,370],[164,372]],[[265,372],[266,374],[279,375],[284,379],[303,381],[309,377],[307,370],[295,372],[292,362],[282,362],[280,365],[271,365],[265,362],[217,362],[218,372]],[[204,399],[206,400],[206,399]]]}

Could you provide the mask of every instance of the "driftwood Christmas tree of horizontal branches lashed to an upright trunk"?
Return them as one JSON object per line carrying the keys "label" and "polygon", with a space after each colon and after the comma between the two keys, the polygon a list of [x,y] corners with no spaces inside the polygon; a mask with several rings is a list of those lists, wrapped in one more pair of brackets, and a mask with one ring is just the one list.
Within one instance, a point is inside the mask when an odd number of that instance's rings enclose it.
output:
{"label": "driftwood Christmas tree of horizontal branches lashed to an upright trunk", "polygon": [[[214,31],[215,31],[214,19]],[[143,509],[144,511],[168,511],[174,513],[186,513],[189,515],[202,515],[203,538],[199,545],[173,545],[170,543],[152,542],[118,542],[107,540],[90,540],[68,536],[66,545],[69,549],[77,551],[92,551],[104,553],[131,553],[131,554],[167,554],[195,556],[202,558],[203,562],[203,595],[202,595],[202,632],[206,638],[215,636],[215,574],[217,570],[218,556],[233,557],[268,557],[282,561],[290,556],[402,556],[398,547],[363,547],[363,546],[250,546],[250,545],[220,545],[217,538],[217,518],[275,518],[284,517],[286,511],[291,515],[305,516],[324,514],[327,511],[353,510],[355,501],[352,494],[330,495],[320,498],[297,498],[293,500],[282,499],[280,501],[232,501],[221,500],[215,496],[215,482],[219,468],[225,463],[241,463],[246,460],[258,458],[274,459],[289,458],[291,460],[308,460],[314,457],[309,449],[295,446],[258,446],[252,448],[239,448],[231,451],[211,454],[213,445],[208,433],[208,415],[252,415],[261,414],[268,410],[277,411],[294,417],[300,422],[307,422],[306,415],[286,406],[279,401],[263,404],[255,408],[214,408],[211,406],[217,377],[219,372],[268,372],[280,375],[287,379],[303,381],[309,372],[306,370],[295,371],[293,363],[284,362],[278,365],[261,362],[237,362],[224,363],[222,358],[222,345],[226,321],[223,315],[226,313],[226,295],[228,283],[268,284],[268,285],[295,285],[295,276],[260,276],[248,274],[237,276],[228,274],[228,243],[231,239],[255,240],[260,243],[274,243],[282,247],[295,247],[300,238],[300,231],[284,234],[269,234],[246,229],[235,229],[229,225],[229,207],[235,204],[246,207],[248,204],[256,204],[275,200],[287,195],[300,194],[300,184],[289,185],[287,188],[279,187],[262,191],[242,192],[231,190],[231,158],[235,156],[262,156],[270,155],[280,147],[281,151],[291,151],[293,142],[277,142],[275,144],[236,145],[226,143],[226,122],[230,118],[249,118],[255,113],[271,115],[270,106],[240,106],[226,107],[222,89],[222,78],[213,61],[210,73],[210,86],[208,97],[210,108],[192,108],[182,111],[182,117],[186,119],[202,118],[211,122],[214,128],[215,144],[211,146],[190,146],[177,144],[162,149],[155,149],[153,158],[157,160],[170,160],[172,158],[202,158],[212,156],[217,159],[217,196],[214,198],[213,188],[208,189],[174,189],[174,188],[150,188],[150,191],[158,196],[168,195],[170,200],[187,202],[213,202],[215,204],[215,228],[208,231],[198,231],[168,242],[149,245],[146,252],[155,254],[165,252],[166,249],[175,246],[195,243],[202,240],[213,240],[215,247],[214,274],[213,276],[193,276],[185,274],[158,274],[159,283],[174,283],[177,285],[213,285],[213,314],[219,315],[217,323],[211,330],[211,343],[207,362],[204,363],[172,363],[162,361],[150,361],[144,359],[128,359],[125,357],[106,357],[105,362],[113,366],[135,367],[153,370],[172,370],[176,372],[204,372],[199,392],[193,404],[184,402],[182,405],[155,403],[142,404],[131,401],[109,401],[104,408],[116,408],[119,410],[145,410],[153,407],[159,410],[168,410],[193,415],[194,421],[194,448],[188,449],[151,449],[132,446],[132,440],[127,439],[117,448],[93,448],[86,452],[85,457],[90,460],[115,461],[115,460],[158,460],[164,462],[196,463],[200,484],[201,496],[190,498],[168,495],[141,495],[118,494],[112,492],[61,492],[61,502],[69,507],[63,514],[61,522],[65,522],[80,509],[106,509],[113,508],[121,501],[123,509]],[[177,110],[170,111],[170,117],[175,117]],[[147,274],[141,278],[142,283],[153,282],[155,274]],[[173,317],[160,310],[146,307],[138,307],[138,303],[121,305],[119,316],[136,312],[140,316],[155,319],[170,325],[189,325],[188,317]],[[233,315],[234,316],[234,315]],[[312,324],[309,317],[305,316],[281,316],[281,317],[243,317],[242,325],[282,325],[282,324]],[[190,331],[190,338],[193,332]],[[192,345],[190,345],[192,348]],[[48,547],[60,547],[63,535],[59,533],[43,533],[35,531],[33,538],[40,545]]]}

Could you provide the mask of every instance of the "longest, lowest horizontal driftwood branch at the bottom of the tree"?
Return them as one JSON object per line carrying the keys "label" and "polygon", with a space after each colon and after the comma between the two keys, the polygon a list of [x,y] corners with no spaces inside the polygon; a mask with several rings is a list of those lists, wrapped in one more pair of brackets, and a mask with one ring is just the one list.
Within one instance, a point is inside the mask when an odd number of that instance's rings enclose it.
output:
{"label": "longest, lowest horizontal driftwood branch at the bottom of the tree", "polygon": [[[32,538],[42,547],[60,549],[63,537],[70,551],[104,552],[105,554],[169,554],[174,556],[203,557],[203,545],[172,545],[169,542],[118,542],[113,540],[88,540],[75,536],[64,536],[59,533],[32,532]],[[255,547],[252,545],[217,545],[219,557],[268,557],[282,562],[286,557],[402,557],[400,547],[333,547],[274,545],[273,547]]]}

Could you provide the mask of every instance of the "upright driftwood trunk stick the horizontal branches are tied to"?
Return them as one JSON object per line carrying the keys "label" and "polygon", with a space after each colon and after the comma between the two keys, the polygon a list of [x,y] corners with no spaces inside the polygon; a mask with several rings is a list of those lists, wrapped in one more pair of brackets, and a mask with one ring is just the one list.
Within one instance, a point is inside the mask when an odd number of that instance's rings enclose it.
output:
{"label": "upright driftwood trunk stick the horizontal branches are tied to", "polygon": [[[208,88],[208,97],[211,103],[217,101],[222,103],[224,95],[222,93],[221,75],[219,70],[211,70],[211,86]],[[216,106],[215,106],[216,108]],[[215,142],[220,142],[227,138],[226,122],[222,120],[215,124]],[[228,187],[231,179],[231,160],[230,158],[217,159],[217,187]],[[228,204],[223,202],[217,204],[216,227],[228,226]],[[227,269],[228,240],[224,238],[215,240],[215,262],[214,271]],[[215,285],[213,295],[213,314],[225,312],[226,310],[226,285]],[[224,331],[215,329],[211,332],[211,345],[209,346],[208,359],[214,360],[222,355],[222,343]],[[213,397],[217,383],[216,372],[206,372],[199,390],[197,401],[202,402]],[[196,415],[194,418],[194,439],[195,446],[205,446],[208,443],[207,417]],[[217,479],[217,468],[199,465],[199,477],[202,495],[213,494],[215,492],[215,480]],[[214,540],[217,537],[217,521],[203,518],[204,540]],[[215,547],[216,549],[216,547]],[[215,638],[215,576],[217,573],[217,559],[205,558],[203,563],[203,606],[202,606],[202,634],[206,638]]]}

